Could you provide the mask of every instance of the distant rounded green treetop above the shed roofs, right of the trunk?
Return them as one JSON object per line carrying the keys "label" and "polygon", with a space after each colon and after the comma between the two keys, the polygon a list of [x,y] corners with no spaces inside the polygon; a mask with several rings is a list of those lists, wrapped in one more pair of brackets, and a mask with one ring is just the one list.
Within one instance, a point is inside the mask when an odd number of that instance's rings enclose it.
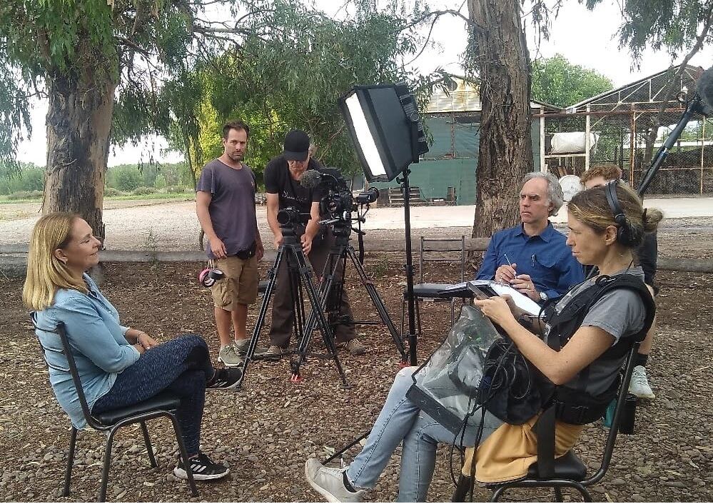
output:
{"label": "distant rounded green treetop above the shed roofs, right of the trunk", "polygon": [[564,108],[613,87],[607,77],[573,65],[561,54],[532,62],[532,98],[547,104]]}

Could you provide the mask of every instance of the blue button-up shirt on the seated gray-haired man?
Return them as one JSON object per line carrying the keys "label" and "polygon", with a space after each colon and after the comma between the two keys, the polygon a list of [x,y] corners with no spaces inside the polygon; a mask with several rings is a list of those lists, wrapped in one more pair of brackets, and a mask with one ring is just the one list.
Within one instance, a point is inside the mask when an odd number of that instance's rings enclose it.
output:
{"label": "blue button-up shirt on the seated gray-haired man", "polygon": [[585,279],[582,265],[572,256],[566,241],[552,223],[547,223],[545,231],[537,236],[527,236],[522,224],[498,231],[490,239],[475,278],[495,280],[498,266],[515,263],[517,274],[530,275],[537,292],[544,292],[547,298],[559,298],[570,286]]}

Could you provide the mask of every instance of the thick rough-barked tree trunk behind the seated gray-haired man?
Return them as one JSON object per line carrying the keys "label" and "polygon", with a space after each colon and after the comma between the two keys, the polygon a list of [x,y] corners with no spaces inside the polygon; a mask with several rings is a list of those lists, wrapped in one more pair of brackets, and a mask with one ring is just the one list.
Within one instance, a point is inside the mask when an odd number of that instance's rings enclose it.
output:
{"label": "thick rough-barked tree trunk behind the seated gray-haired man", "polygon": [[520,221],[522,176],[532,170],[530,56],[520,1],[468,0],[480,71],[480,153],[472,236],[491,236]]}

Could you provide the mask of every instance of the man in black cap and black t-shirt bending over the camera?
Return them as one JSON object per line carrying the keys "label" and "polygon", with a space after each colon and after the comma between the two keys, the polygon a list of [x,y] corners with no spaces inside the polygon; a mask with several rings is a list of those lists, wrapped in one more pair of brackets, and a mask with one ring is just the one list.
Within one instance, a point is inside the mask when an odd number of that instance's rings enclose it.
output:
{"label": "man in black cap and black t-shirt bending over the camera", "polygon": [[[283,242],[282,230],[277,220],[278,211],[283,208],[298,208],[302,221],[295,225],[295,233],[300,236],[302,250],[312,264],[313,271],[320,275],[324,269],[334,238],[329,229],[323,229],[320,220],[319,202],[323,193],[320,188],[305,188],[300,179],[305,171],[319,170],[320,164],[310,156],[310,137],[304,131],[295,129],[285,136],[285,150],[272,158],[265,168],[265,191],[268,206],[268,224],[275,236],[275,248]],[[338,268],[340,272],[340,268]],[[290,293],[288,269],[280,264],[278,288],[273,297],[272,326],[270,327],[270,348],[266,358],[279,359],[290,344],[293,329],[293,300]],[[340,300],[340,314],[353,321],[349,300],[345,292]],[[344,343],[352,355],[365,353],[366,348],[356,339],[353,323],[342,323],[334,328],[337,343]]]}

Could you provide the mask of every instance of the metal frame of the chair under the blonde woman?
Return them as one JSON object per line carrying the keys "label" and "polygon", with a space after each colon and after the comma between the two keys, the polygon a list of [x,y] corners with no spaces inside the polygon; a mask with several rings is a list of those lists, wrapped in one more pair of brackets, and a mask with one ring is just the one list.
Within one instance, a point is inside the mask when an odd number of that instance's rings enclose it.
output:
{"label": "metal frame of the chair under the blonde woman", "polygon": [[[34,318],[33,318],[34,323]],[[101,488],[99,489],[98,502],[106,501],[106,487],[108,484],[109,476],[109,465],[111,463],[111,447],[113,443],[114,434],[120,428],[131,423],[140,423],[141,432],[143,433],[143,441],[146,443],[146,451],[148,452],[148,460],[151,462],[151,467],[158,467],[156,463],[156,457],[153,455],[153,448],[151,447],[151,438],[148,436],[148,428],[146,428],[146,420],[151,420],[152,418],[167,417],[171,420],[173,424],[173,431],[176,433],[176,441],[178,442],[178,450],[181,453],[181,460],[183,460],[183,465],[186,468],[186,475],[188,477],[188,485],[191,488],[191,496],[198,497],[198,489],[196,488],[196,481],[193,479],[193,471],[191,470],[191,464],[188,461],[188,453],[186,452],[186,445],[183,443],[183,436],[181,435],[181,425],[178,423],[176,418],[176,410],[150,410],[145,413],[140,413],[138,415],[131,415],[125,418],[121,418],[113,424],[105,424],[94,418],[89,410],[89,405],[86,402],[86,397],[84,395],[84,390],[81,386],[81,381],[79,380],[79,372],[76,368],[76,362],[74,361],[74,356],[70,351],[69,339],[67,338],[67,333],[64,328],[64,324],[60,323],[59,326],[54,330],[47,330],[43,328],[43,331],[54,332],[59,335],[62,342],[62,353],[67,359],[69,365],[69,371],[72,376],[72,381],[74,382],[74,387],[76,388],[77,395],[79,396],[79,403],[81,404],[82,413],[84,414],[84,420],[86,420],[87,425],[98,430],[100,432],[106,433],[106,449],[104,450],[103,456],[103,468],[101,473]],[[40,346],[42,344],[40,343]],[[46,352],[47,349],[42,346],[42,351]],[[177,399],[177,398],[176,398]],[[139,405],[141,403],[138,403]],[[76,440],[77,440],[77,428],[72,425],[71,432],[69,434],[69,455],[67,458],[67,467],[64,473],[64,490],[62,491],[63,497],[69,497],[69,489],[71,485],[72,477],[72,465],[74,465],[74,454],[76,450]]]}

